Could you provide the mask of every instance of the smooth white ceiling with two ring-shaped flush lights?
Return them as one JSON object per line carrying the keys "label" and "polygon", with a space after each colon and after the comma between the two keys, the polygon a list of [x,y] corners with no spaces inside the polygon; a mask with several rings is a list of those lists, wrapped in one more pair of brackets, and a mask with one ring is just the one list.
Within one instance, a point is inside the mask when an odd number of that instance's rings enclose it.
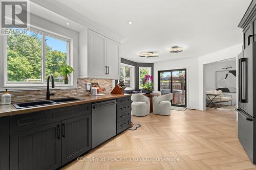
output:
{"label": "smooth white ceiling with two ring-shaped flush lights", "polygon": [[[159,62],[198,57],[242,43],[238,23],[251,0],[57,0],[123,38],[121,57]],[[127,24],[132,20],[133,24]],[[182,53],[172,54],[172,46]],[[242,48],[242,47],[241,47]],[[157,58],[140,52],[156,51]]]}

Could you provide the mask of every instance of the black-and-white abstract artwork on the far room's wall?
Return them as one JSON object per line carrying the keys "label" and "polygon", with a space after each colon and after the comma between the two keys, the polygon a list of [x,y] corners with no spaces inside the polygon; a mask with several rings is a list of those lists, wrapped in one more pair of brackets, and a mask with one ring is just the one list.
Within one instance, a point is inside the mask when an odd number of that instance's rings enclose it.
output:
{"label": "black-and-white abstract artwork on the far room's wall", "polygon": [[236,93],[236,70],[216,71],[216,90]]}

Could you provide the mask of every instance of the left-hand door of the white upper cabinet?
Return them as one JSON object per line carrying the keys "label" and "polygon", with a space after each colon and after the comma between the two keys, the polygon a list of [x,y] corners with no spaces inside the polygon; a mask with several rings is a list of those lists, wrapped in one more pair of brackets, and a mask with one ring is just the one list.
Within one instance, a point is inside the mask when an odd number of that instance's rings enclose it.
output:
{"label": "left-hand door of the white upper cabinet", "polygon": [[107,74],[106,37],[91,30],[88,31],[88,34],[88,76],[104,78]]}

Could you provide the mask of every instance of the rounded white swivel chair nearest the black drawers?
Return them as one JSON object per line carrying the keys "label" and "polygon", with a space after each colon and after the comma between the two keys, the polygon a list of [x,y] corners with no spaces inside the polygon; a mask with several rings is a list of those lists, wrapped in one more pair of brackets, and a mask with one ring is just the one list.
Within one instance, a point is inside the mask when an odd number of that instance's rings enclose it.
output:
{"label": "rounded white swivel chair nearest the black drawers", "polygon": [[150,114],[150,98],[143,94],[132,94],[132,115],[146,116]]}

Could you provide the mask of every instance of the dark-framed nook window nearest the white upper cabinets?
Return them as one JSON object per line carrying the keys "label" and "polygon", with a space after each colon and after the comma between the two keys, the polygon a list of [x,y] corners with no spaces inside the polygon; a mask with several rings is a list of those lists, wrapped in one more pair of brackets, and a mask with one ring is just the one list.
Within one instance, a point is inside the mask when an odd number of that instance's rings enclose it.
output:
{"label": "dark-framed nook window nearest the white upper cabinets", "polygon": [[126,90],[134,89],[134,66],[121,63],[120,80],[124,81]]}

